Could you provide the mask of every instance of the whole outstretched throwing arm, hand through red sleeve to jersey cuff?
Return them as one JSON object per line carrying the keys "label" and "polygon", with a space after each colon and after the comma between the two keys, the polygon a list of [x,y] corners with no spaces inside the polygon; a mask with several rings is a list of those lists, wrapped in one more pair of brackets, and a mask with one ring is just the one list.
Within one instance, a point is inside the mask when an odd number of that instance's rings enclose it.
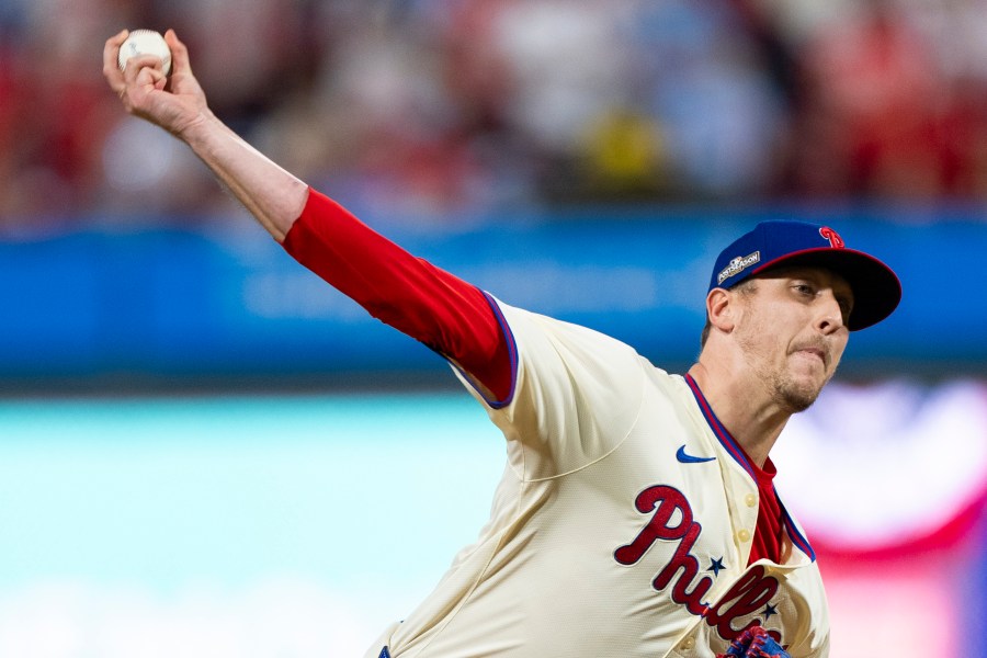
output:
{"label": "whole outstretched throwing arm, hand through red sleeve to jersey cuff", "polygon": [[124,30],[103,48],[103,75],[128,113],[185,144],[303,265],[371,315],[443,354],[488,400],[510,397],[510,345],[490,300],[475,286],[417,259],[268,159],[209,110],[174,31],[164,33],[172,73],[154,56],[117,66]]}

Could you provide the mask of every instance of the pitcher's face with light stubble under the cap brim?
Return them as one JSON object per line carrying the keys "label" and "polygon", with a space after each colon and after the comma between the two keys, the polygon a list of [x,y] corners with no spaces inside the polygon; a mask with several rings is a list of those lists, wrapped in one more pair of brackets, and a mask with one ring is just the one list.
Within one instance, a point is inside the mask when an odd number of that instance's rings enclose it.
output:
{"label": "pitcher's face with light stubble under the cap brim", "polygon": [[807,409],[847,348],[850,285],[821,268],[785,268],[759,275],[738,298],[735,339],[748,366],[775,402]]}

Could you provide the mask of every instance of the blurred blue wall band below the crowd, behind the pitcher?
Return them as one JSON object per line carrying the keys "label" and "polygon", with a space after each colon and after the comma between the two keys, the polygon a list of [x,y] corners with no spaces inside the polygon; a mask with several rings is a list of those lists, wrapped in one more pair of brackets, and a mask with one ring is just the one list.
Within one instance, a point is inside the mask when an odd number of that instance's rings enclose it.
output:
{"label": "blurred blue wall band below the crowd, behind the pitcher", "polygon": [[[963,212],[911,213],[855,212],[831,222],[849,247],[890,264],[905,288],[890,320],[854,334],[843,373],[985,373],[987,222]],[[504,302],[588,325],[681,367],[697,351],[716,253],[757,220],[792,214],[644,215],[586,211],[458,232],[389,224],[383,232]],[[343,373],[431,376],[445,367],[249,225],[8,238],[0,282],[5,387],[107,377],[331,382]]]}

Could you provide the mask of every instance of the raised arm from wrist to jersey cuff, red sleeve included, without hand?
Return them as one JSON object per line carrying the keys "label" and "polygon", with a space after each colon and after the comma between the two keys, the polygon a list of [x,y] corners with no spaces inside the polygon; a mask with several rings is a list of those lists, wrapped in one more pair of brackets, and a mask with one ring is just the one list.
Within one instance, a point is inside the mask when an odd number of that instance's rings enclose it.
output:
{"label": "raised arm from wrist to jersey cuff, red sleeve included, without hand", "polygon": [[305,266],[374,317],[458,363],[495,399],[508,395],[507,345],[480,291],[407,253],[331,200],[310,198],[306,183],[211,114],[178,136]]}

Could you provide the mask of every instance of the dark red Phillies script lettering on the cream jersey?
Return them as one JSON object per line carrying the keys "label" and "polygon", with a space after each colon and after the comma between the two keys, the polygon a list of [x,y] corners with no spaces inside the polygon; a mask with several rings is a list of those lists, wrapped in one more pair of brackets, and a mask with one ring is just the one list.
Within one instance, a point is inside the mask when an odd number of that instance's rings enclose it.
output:
{"label": "dark red Phillies script lettering on the cream jersey", "polygon": [[[755,619],[744,627],[735,628],[733,622],[763,610],[778,593],[778,579],[765,577],[764,567],[759,565],[746,571],[716,605],[704,603],[703,598],[713,587],[713,578],[703,576],[696,580],[700,561],[691,551],[703,527],[693,519],[689,500],[673,487],[656,485],[638,494],[634,507],[643,514],[653,511],[654,514],[633,542],[613,552],[614,559],[622,565],[634,565],[656,541],[678,542],[671,559],[651,581],[656,591],[671,586],[672,600],[684,605],[690,613],[705,619],[727,642],[761,624],[760,619]],[[775,639],[781,642],[780,637]]]}

